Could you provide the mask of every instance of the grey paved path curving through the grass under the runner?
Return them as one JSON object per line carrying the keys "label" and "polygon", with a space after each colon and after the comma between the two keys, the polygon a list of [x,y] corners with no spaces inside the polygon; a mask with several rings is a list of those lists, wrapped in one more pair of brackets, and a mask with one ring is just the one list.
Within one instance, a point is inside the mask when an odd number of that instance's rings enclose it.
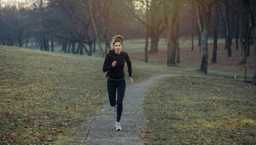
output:
{"label": "grey paved path curving through the grass under the runner", "polygon": [[87,129],[80,132],[80,137],[77,138],[75,144],[144,144],[143,140],[139,137],[143,137],[142,130],[146,119],[142,114],[140,104],[149,87],[153,86],[157,80],[167,76],[174,75],[153,76],[141,83],[126,87],[125,97],[123,98],[123,112],[120,120],[121,131],[117,131],[114,126],[116,123],[116,112],[113,112],[108,103],[91,126],[84,126]]}

